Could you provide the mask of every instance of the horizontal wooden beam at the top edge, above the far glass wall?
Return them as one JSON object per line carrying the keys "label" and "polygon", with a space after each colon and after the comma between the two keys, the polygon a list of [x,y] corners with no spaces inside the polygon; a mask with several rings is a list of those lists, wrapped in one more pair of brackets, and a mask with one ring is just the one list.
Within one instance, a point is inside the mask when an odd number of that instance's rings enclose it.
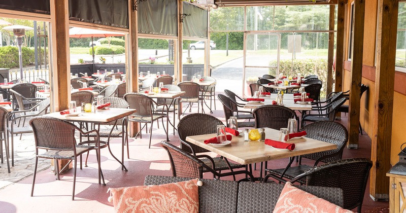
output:
{"label": "horizontal wooden beam at the top edge, above the far glass wall", "polygon": [[313,4],[337,4],[336,0],[215,0],[218,6],[261,6],[261,5],[313,5]]}

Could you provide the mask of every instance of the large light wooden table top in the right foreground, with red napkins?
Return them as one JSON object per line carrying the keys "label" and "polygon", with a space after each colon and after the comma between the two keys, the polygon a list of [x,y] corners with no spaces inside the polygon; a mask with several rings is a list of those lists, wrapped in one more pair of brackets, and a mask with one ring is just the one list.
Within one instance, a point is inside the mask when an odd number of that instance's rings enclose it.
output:
{"label": "large light wooden table top in the right foreground, with red napkins", "polygon": [[[265,128],[265,135],[268,139],[278,140],[279,130]],[[215,136],[215,133],[206,135],[195,135],[186,137],[186,140],[194,145],[205,148],[232,161],[245,165],[250,163],[259,163],[268,160],[288,158],[298,155],[337,149],[337,146],[335,144],[303,137],[290,140],[291,143],[295,143],[296,145],[296,148],[293,151],[281,151],[271,146],[265,145],[261,141],[244,142],[243,134],[241,134],[240,136],[232,136],[231,144],[223,147],[204,143],[205,139]]]}

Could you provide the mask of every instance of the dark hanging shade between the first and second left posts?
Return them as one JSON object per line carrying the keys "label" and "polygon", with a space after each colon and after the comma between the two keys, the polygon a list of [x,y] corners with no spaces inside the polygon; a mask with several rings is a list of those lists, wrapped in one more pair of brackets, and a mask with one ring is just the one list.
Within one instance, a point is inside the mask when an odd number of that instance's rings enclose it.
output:
{"label": "dark hanging shade between the first and second left posts", "polygon": [[128,1],[69,0],[69,19],[128,29]]}

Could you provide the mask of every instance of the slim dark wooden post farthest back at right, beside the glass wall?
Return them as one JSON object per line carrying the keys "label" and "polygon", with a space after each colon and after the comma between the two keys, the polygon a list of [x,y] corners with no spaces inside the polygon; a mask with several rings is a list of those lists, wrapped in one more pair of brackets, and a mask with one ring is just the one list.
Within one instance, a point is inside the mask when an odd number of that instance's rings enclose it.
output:
{"label": "slim dark wooden post farthest back at right, beside the glass wall", "polygon": [[[328,30],[334,30],[335,5],[330,5],[330,19]],[[328,33],[328,56],[327,56],[327,92],[330,94],[333,87],[333,63],[334,63],[334,32]]]}

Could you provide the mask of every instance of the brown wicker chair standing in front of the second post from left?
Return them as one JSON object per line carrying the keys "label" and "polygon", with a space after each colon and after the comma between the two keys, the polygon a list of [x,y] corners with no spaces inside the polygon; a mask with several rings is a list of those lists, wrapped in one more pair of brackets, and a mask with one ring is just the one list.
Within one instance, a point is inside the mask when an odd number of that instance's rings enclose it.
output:
{"label": "brown wicker chair standing in front of the second post from left", "polygon": [[162,126],[166,133],[167,130],[165,129],[165,126],[163,124],[163,118],[166,117],[166,114],[154,113],[154,105],[156,105],[157,103],[154,100],[152,100],[152,98],[150,98],[146,95],[142,95],[142,94],[138,94],[138,93],[127,93],[124,95],[124,100],[128,102],[130,109],[137,109],[137,112],[132,114],[130,116],[132,118],[129,119],[129,121],[131,121],[131,122],[140,123],[140,131],[137,133],[136,138],[137,138],[138,134],[140,134],[140,138],[142,138],[141,130],[144,127],[141,127],[141,123],[145,123],[145,125],[147,123],[151,124],[150,130],[149,130],[150,136],[149,136],[149,146],[148,146],[148,149],[150,149],[151,148],[151,139],[152,139],[152,125],[154,124],[154,121],[156,121],[158,119],[162,119]]}

